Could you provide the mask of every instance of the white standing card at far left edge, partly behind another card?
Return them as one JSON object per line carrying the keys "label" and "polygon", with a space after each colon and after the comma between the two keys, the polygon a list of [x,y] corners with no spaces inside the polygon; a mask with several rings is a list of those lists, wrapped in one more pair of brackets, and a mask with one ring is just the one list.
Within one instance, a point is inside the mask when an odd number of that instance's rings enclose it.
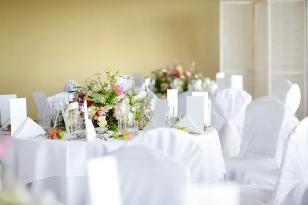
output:
{"label": "white standing card at far left edge, partly behind another card", "polygon": [[10,124],[10,99],[16,98],[17,95],[0,95],[0,127]]}

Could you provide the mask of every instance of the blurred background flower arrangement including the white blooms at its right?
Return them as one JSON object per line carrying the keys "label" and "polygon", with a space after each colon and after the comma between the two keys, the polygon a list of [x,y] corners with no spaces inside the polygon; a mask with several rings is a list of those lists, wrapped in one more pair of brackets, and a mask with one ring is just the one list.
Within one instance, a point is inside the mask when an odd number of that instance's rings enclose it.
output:
{"label": "blurred background flower arrangement including the white blooms at its right", "polygon": [[183,64],[175,60],[172,66],[158,69],[152,72],[152,91],[159,97],[165,99],[168,89],[177,89],[179,93],[185,91],[208,91],[212,94],[217,89],[215,81],[208,77],[203,77],[201,72],[195,70],[195,62],[188,68],[183,68]]}

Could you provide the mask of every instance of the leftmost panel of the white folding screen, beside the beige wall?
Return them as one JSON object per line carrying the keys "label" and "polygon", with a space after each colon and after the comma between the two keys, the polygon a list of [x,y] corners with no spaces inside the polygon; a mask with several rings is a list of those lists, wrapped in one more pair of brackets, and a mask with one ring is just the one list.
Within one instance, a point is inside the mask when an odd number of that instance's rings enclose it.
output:
{"label": "leftmost panel of the white folding screen, beside the beige wall", "polygon": [[220,2],[220,72],[243,75],[252,93],[253,1]]}

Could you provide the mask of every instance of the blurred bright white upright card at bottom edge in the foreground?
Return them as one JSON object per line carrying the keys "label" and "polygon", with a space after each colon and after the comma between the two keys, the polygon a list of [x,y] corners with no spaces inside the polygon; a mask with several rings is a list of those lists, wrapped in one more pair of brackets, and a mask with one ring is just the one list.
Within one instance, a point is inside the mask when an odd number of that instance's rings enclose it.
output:
{"label": "blurred bright white upright card at bottom edge in the foreground", "polygon": [[[88,195],[91,205],[122,205],[121,182],[117,158],[91,159],[87,166]],[[102,174],[104,173],[104,174]],[[104,197],[102,197],[104,193]]]}

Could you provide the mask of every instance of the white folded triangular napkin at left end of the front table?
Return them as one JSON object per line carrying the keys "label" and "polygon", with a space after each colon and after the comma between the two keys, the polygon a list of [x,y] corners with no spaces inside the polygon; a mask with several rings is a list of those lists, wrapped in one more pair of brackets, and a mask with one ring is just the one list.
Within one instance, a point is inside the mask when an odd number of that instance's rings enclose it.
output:
{"label": "white folded triangular napkin at left end of the front table", "polygon": [[12,134],[12,137],[30,137],[44,135],[45,133],[46,131],[41,126],[37,125],[30,117],[27,117],[17,131]]}

